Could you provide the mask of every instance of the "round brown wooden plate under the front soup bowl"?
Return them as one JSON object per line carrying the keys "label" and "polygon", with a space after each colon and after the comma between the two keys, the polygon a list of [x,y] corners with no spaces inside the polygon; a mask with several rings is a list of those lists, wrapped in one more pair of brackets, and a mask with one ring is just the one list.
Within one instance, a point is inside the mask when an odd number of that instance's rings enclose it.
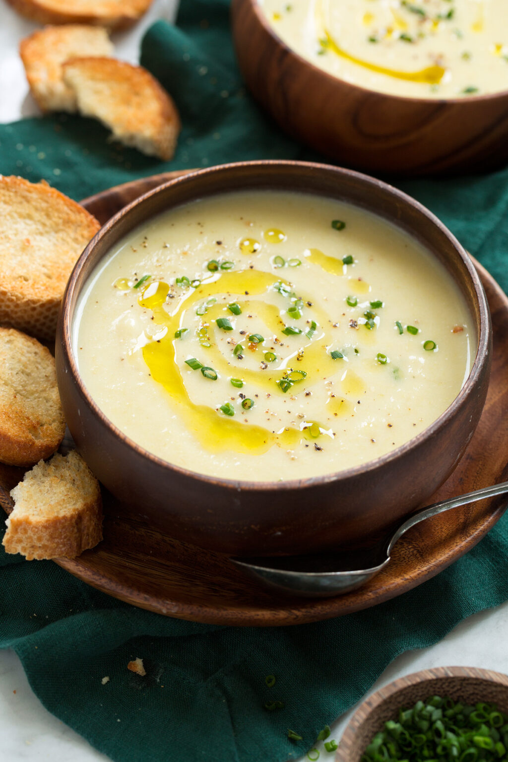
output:
{"label": "round brown wooden plate under the front soup bowl", "polygon": [[[170,173],[112,188],[83,203],[101,222]],[[465,456],[429,502],[508,479],[508,298],[477,264],[494,325],[494,357],[487,403]],[[23,470],[0,466],[0,504],[11,510],[9,491]],[[104,495],[104,542],[62,568],[129,604],[196,622],[280,626],[352,613],[401,595],[468,552],[494,526],[506,497],[455,508],[410,530],[395,546],[391,563],[369,584],[325,599],[280,597],[244,578],[217,553],[177,542],[143,523],[123,517],[122,507]]]}

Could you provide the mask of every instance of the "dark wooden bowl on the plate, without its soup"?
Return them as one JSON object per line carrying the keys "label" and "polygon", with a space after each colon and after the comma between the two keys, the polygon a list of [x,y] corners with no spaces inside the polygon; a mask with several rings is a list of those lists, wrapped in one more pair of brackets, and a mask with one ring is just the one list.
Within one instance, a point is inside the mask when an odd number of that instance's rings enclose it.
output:
{"label": "dark wooden bowl on the plate, without its soup", "polygon": [[[312,479],[241,482],[172,466],[139,447],[97,407],[81,380],[72,347],[78,296],[97,263],[155,214],[225,191],[305,191],[363,207],[407,230],[443,262],[465,296],[478,341],[475,359],[452,405],[411,441],[363,466]],[[448,477],[478,424],[490,372],[490,315],[468,255],[419,203],[353,171],[303,162],[245,162],[177,178],[129,204],[97,233],[70,277],[56,339],[65,420],[98,479],[143,520],[177,539],[238,555],[331,548],[388,527]],[[175,443],[177,447],[177,443]]]}

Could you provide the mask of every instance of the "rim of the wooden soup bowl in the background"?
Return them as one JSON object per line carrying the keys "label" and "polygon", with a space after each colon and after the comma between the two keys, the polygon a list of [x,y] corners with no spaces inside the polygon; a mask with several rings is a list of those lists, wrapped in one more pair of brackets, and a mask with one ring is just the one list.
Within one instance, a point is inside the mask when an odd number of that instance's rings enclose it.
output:
{"label": "rim of the wooden soup bowl in the background", "polygon": [[309,61],[304,56],[302,56],[300,53],[297,53],[297,51],[290,47],[283,39],[282,37],[279,37],[279,35],[276,33],[275,30],[273,30],[272,27],[270,27],[270,24],[267,20],[267,16],[264,14],[264,11],[261,8],[259,0],[233,0],[233,5],[241,2],[248,2],[252,5],[252,8],[254,9],[254,13],[256,14],[257,20],[260,22],[261,26],[264,27],[264,30],[270,34],[270,37],[273,37],[273,39],[278,43],[283,50],[286,52],[286,54],[291,54],[292,56],[295,56],[296,59],[301,64],[304,64],[305,66],[308,66],[310,69],[312,69],[313,72],[319,72],[321,75],[324,75],[327,79],[335,82],[341,82],[343,85],[347,85],[350,88],[359,90],[362,93],[370,93],[375,95],[384,95],[385,98],[395,98],[397,101],[405,101],[407,103],[417,104],[417,103],[426,103],[426,104],[463,104],[463,103],[473,103],[473,104],[481,104],[483,101],[494,101],[497,98],[503,99],[508,98],[508,88],[506,90],[500,90],[498,92],[494,93],[484,93],[480,95],[468,95],[465,98],[429,98],[429,97],[422,97],[418,98],[416,96],[412,95],[398,95],[398,94],[392,94],[392,93],[385,93],[382,90],[374,90],[373,88],[366,88],[363,87],[363,85],[356,85],[355,82],[347,82],[346,79],[343,79],[342,77],[339,77],[334,74],[330,74],[330,72],[325,71],[324,69],[321,69],[319,66],[316,66],[315,63],[312,63],[312,61]]}

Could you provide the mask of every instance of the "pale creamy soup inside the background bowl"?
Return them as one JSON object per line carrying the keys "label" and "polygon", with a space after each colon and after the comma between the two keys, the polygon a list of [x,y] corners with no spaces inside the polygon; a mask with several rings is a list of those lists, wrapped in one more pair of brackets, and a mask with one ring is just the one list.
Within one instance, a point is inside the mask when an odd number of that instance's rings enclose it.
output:
{"label": "pale creamy soup inside the background bowl", "polygon": [[284,42],[364,88],[413,98],[508,90],[506,0],[259,0]]}

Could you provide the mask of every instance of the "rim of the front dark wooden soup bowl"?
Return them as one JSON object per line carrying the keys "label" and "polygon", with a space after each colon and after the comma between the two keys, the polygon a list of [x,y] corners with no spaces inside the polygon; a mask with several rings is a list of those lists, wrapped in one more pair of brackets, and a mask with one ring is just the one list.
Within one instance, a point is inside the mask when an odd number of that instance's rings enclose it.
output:
{"label": "rim of the front dark wooden soup bowl", "polygon": [[[83,290],[83,288],[85,287],[86,283],[88,282],[88,278],[91,275],[91,271],[88,273],[87,277],[84,277],[84,280],[81,283],[81,287],[78,289],[77,283],[76,283],[78,280],[78,277],[81,276],[81,271],[83,271],[83,269],[87,266],[88,257],[89,255],[91,255],[91,252],[94,250],[97,243],[101,241],[104,235],[110,232],[110,229],[112,229],[113,226],[116,226],[117,223],[119,223],[124,216],[128,215],[130,211],[138,207],[139,204],[145,203],[151,197],[164,192],[165,189],[168,187],[178,186],[182,183],[184,184],[192,183],[196,181],[196,178],[198,178],[198,181],[199,181],[200,177],[206,176],[209,174],[220,174],[222,172],[225,173],[227,171],[240,171],[241,169],[246,167],[257,167],[260,169],[260,171],[264,171],[264,168],[269,169],[274,166],[276,167],[282,166],[283,168],[287,168],[288,170],[291,168],[293,169],[312,168],[314,171],[332,171],[334,174],[337,174],[339,176],[346,176],[349,178],[356,179],[356,181],[359,181],[360,183],[363,183],[364,185],[381,187],[383,190],[388,191],[389,194],[398,198],[398,200],[401,203],[404,203],[405,205],[410,205],[411,207],[414,207],[418,212],[423,214],[423,216],[425,216],[428,219],[429,223],[433,224],[434,226],[437,226],[439,230],[444,235],[446,235],[446,238],[449,239],[449,242],[455,248],[455,251],[457,252],[459,258],[461,259],[463,266],[468,271],[469,277],[471,278],[471,281],[474,287],[474,293],[476,294],[476,298],[478,301],[478,311],[479,311],[479,317],[480,317],[480,320],[479,320],[480,331],[478,331],[478,347],[474,357],[474,361],[471,364],[471,370],[468,374],[468,378],[465,380],[465,383],[462,386],[462,389],[460,389],[460,391],[458,392],[458,395],[455,396],[455,399],[453,399],[453,401],[446,408],[446,410],[444,410],[443,413],[441,413],[441,415],[439,415],[438,418],[436,418],[429,426],[423,429],[423,431],[421,431],[420,434],[417,434],[415,437],[412,437],[410,440],[407,440],[407,442],[402,443],[399,447],[396,447],[395,450],[390,450],[388,453],[385,453],[384,455],[378,456],[375,459],[369,460],[366,463],[362,463],[359,466],[353,466],[352,468],[349,468],[349,469],[341,469],[340,471],[337,471],[337,472],[331,472],[329,474],[318,475],[318,476],[311,476],[305,479],[290,479],[290,480],[275,481],[275,482],[254,482],[254,481],[251,482],[244,479],[225,479],[215,475],[203,474],[198,471],[193,471],[192,469],[186,469],[183,466],[177,466],[176,464],[171,463],[170,461],[165,460],[164,458],[161,458],[158,455],[155,455],[155,453],[152,453],[149,450],[146,450],[144,447],[136,443],[136,441],[134,441],[133,439],[128,437],[126,434],[124,434],[123,431],[121,431],[116,424],[113,424],[113,421],[110,421],[110,419],[107,418],[107,415],[104,414],[104,412],[101,410],[99,405],[97,405],[97,403],[92,398],[91,394],[88,392],[87,386],[85,385],[84,380],[81,378],[81,373],[78,370],[78,363],[76,361],[75,353],[72,347],[72,321],[73,321],[74,311],[71,312],[70,303],[72,299],[74,298],[74,296],[75,296],[75,304],[78,303],[78,296]],[[290,190],[290,188],[288,188],[287,190]],[[228,192],[227,189],[220,190],[210,195],[220,195],[220,194],[225,194],[227,192]],[[324,194],[318,193],[316,195],[319,196]],[[196,196],[196,198],[199,198],[199,195]],[[184,202],[184,203],[188,203],[188,202]],[[177,206],[178,204],[174,204],[174,207],[171,207],[171,208],[175,208]],[[371,213],[375,214],[375,212],[372,212],[372,211]],[[151,216],[154,216],[154,215],[149,215],[147,216],[146,219],[150,219]],[[381,216],[381,215],[378,215],[378,216]],[[382,218],[382,219],[385,219],[385,218]],[[138,223],[138,224],[142,224],[142,223]],[[396,225],[394,221],[392,221],[391,224]],[[375,469],[384,467],[387,463],[390,463],[392,460],[398,459],[398,457],[400,457],[401,455],[404,455],[404,453],[406,453],[407,450],[411,450],[414,447],[418,447],[418,445],[422,443],[424,440],[427,440],[427,438],[433,437],[434,435],[436,435],[439,432],[439,430],[447,424],[449,419],[452,418],[452,416],[455,414],[456,409],[462,404],[462,401],[468,395],[470,395],[472,392],[472,389],[474,389],[478,376],[481,375],[483,367],[484,367],[484,363],[487,361],[489,356],[491,330],[492,329],[490,325],[490,310],[487,305],[487,298],[484,293],[484,288],[481,285],[480,277],[478,276],[478,273],[474,268],[471,258],[469,258],[469,255],[467,251],[465,251],[465,248],[455,238],[455,235],[453,235],[452,232],[449,231],[449,229],[439,220],[438,217],[436,217],[436,215],[430,212],[430,210],[428,210],[427,207],[424,207],[423,204],[421,204],[419,201],[405,194],[403,191],[399,191],[398,188],[395,188],[391,186],[390,184],[385,183],[384,181],[381,181],[377,178],[372,178],[367,174],[363,174],[362,172],[358,172],[352,169],[346,169],[346,168],[341,168],[334,165],[327,165],[327,164],[317,163],[317,162],[300,162],[296,160],[283,160],[283,159],[261,159],[257,161],[234,162],[231,164],[215,165],[212,167],[207,167],[207,168],[199,169],[196,171],[190,171],[189,174],[185,174],[185,175],[182,175],[181,177],[174,178],[173,180],[170,180],[168,182],[165,182],[164,184],[161,184],[155,188],[152,188],[151,191],[148,191],[147,193],[142,194],[142,196],[139,196],[138,198],[136,198],[135,200],[127,204],[125,207],[123,207],[120,211],[118,211],[112,217],[110,217],[107,223],[105,223],[104,226],[101,227],[101,229],[94,235],[91,241],[88,242],[88,245],[86,245],[85,249],[81,252],[81,255],[79,256],[78,261],[76,261],[75,266],[72,270],[72,273],[69,277],[69,280],[65,287],[64,295],[62,297],[62,303],[60,306],[59,323],[57,328],[57,343],[60,341],[62,346],[62,351],[64,353],[67,363],[69,364],[69,371],[72,375],[72,379],[74,380],[74,383],[78,386],[79,392],[81,393],[81,396],[85,399],[88,407],[91,408],[91,411],[93,411],[95,415],[97,415],[97,417],[101,421],[101,424],[103,424],[110,431],[110,433],[114,435],[114,437],[116,437],[117,439],[120,439],[127,447],[135,450],[140,456],[144,457],[145,459],[148,459],[154,466],[158,466],[164,469],[169,469],[170,471],[177,472],[179,475],[182,475],[184,477],[191,478],[194,480],[197,479],[198,481],[204,482],[209,485],[222,485],[225,488],[232,488],[235,490],[262,493],[266,491],[292,491],[296,488],[299,488],[299,489],[311,488],[318,485],[325,485],[328,482],[337,482],[337,481],[340,481],[341,479],[352,479],[352,478],[358,477],[359,475],[366,475],[369,472],[375,471]]]}

